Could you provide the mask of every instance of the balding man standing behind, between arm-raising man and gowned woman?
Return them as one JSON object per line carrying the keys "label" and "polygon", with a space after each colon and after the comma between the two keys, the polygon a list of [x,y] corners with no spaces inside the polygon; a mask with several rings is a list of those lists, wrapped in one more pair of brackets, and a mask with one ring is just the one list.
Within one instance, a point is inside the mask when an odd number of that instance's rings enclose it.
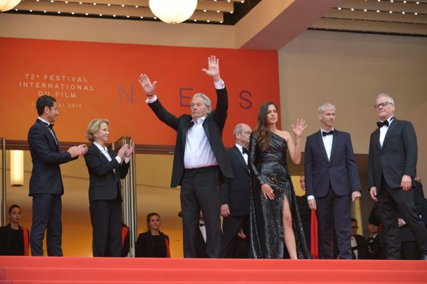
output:
{"label": "balding man standing behind, between arm-raising man and gowned woman", "polygon": [[[223,184],[221,190],[221,216],[223,217],[223,239],[221,258],[249,256],[249,212],[251,205],[251,173],[248,168],[248,145],[252,129],[246,124],[234,127],[236,144],[228,149],[227,156],[233,168],[233,178]],[[240,232],[241,236],[238,236]],[[242,236],[244,239],[242,239]],[[243,251],[236,250],[237,242]],[[242,247],[239,246],[239,247]]]}

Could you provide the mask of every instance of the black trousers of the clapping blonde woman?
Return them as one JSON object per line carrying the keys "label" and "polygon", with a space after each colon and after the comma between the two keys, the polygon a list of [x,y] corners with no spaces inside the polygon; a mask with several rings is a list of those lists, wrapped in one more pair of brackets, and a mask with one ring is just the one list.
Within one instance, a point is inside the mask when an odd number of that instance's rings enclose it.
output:
{"label": "black trousers of the clapping blonde woman", "polygon": [[93,256],[119,257],[122,252],[122,201],[93,200],[90,202],[93,228]]}

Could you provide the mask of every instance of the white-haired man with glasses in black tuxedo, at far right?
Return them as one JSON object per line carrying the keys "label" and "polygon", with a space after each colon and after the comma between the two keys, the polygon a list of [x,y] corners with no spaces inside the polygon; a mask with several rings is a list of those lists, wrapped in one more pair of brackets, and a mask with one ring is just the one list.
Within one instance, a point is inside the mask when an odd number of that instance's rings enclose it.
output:
{"label": "white-haired man with glasses in black tuxedo, at far right", "polygon": [[427,231],[413,202],[418,155],[415,130],[411,122],[394,118],[396,107],[388,94],[379,94],[374,107],[381,121],[369,141],[368,182],[371,198],[379,202],[388,258],[401,258],[401,214],[416,238],[422,258],[427,260]]}

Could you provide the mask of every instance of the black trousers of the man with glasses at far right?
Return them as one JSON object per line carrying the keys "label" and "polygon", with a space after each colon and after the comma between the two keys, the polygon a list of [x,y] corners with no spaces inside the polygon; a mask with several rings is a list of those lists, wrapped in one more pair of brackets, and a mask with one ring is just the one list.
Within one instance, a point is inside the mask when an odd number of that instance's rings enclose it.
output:
{"label": "black trousers of the man with glasses at far right", "polygon": [[399,238],[400,216],[415,236],[416,244],[422,255],[427,255],[427,230],[416,214],[413,203],[413,188],[404,191],[401,188],[391,188],[384,177],[378,192],[378,203],[381,209],[381,220],[386,234],[388,259],[401,259],[401,239]]}

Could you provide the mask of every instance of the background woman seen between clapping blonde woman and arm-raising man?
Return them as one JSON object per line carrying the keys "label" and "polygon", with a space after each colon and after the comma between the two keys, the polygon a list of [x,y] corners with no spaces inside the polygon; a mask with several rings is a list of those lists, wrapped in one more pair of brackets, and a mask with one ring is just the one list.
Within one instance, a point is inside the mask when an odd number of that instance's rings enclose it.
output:
{"label": "background woman seen between clapping blonde woman and arm-raising man", "polygon": [[147,231],[138,236],[135,257],[170,258],[169,236],[160,231],[160,215],[147,214],[147,226]]}

